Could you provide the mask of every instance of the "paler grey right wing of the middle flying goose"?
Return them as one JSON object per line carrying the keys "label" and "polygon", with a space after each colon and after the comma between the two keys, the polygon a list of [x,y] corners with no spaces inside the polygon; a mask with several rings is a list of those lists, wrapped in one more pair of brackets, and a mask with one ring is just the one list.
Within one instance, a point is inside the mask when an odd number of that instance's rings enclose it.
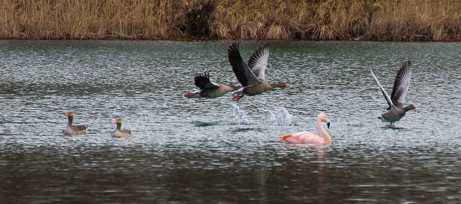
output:
{"label": "paler grey right wing of the middle flying goose", "polygon": [[248,67],[256,75],[259,80],[265,81],[264,71],[267,67],[267,60],[269,58],[269,44],[260,46],[255,53],[248,60]]}

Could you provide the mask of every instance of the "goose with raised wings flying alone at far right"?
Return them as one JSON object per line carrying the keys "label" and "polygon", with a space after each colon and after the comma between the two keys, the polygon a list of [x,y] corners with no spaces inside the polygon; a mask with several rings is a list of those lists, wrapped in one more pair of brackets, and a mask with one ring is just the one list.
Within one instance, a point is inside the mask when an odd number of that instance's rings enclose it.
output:
{"label": "goose with raised wings flying alone at far right", "polygon": [[409,110],[416,109],[416,106],[413,104],[404,107],[404,98],[407,94],[408,88],[410,87],[410,77],[411,77],[411,62],[405,62],[402,67],[397,72],[394,81],[394,87],[392,89],[392,95],[389,98],[387,92],[381,86],[380,81],[376,77],[376,74],[370,67],[371,75],[373,75],[374,80],[380,87],[381,91],[383,92],[384,97],[387,100],[387,104],[389,104],[389,108],[387,108],[388,112],[381,114],[382,117],[379,117],[383,122],[390,122],[393,125],[393,122],[399,121],[400,119],[405,116],[405,113]]}

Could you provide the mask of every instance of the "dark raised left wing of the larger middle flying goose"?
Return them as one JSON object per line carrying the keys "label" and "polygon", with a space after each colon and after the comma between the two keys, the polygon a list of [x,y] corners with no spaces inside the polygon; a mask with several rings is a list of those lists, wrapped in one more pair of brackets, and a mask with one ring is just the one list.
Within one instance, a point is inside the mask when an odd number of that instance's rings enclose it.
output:
{"label": "dark raised left wing of the larger middle flying goose", "polygon": [[229,63],[231,63],[232,70],[234,71],[237,80],[239,80],[243,87],[255,86],[261,83],[258,78],[256,78],[253,71],[250,70],[243,61],[242,56],[240,55],[238,42],[233,42],[229,45],[229,48],[227,49],[227,57],[229,58]]}

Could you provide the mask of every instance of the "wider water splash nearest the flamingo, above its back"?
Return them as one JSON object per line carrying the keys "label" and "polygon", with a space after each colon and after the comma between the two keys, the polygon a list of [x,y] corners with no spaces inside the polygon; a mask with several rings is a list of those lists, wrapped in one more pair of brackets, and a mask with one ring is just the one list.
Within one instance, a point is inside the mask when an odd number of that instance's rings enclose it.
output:
{"label": "wider water splash nearest the flamingo, above its back", "polygon": [[291,115],[284,107],[275,107],[274,110],[262,109],[263,117],[261,124],[289,126],[295,123]]}

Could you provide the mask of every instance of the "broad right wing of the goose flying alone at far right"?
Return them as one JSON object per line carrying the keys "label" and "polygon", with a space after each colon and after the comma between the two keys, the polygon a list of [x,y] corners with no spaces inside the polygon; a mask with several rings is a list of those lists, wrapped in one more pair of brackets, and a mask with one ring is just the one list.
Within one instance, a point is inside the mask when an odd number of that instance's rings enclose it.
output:
{"label": "broad right wing of the goose flying alone at far right", "polygon": [[410,88],[411,62],[405,62],[397,72],[392,89],[391,100],[394,106],[404,108],[404,99]]}

